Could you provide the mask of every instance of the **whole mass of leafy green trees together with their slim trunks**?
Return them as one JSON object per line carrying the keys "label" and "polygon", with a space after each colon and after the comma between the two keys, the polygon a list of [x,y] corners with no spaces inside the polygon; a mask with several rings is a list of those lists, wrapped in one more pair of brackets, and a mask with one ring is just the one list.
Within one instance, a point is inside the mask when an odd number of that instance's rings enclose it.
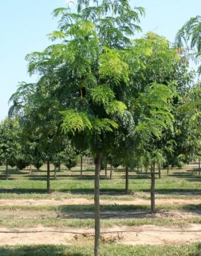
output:
{"label": "whole mass of leafy green trees together with their slim trunks", "polygon": [[[49,181],[50,161],[72,149],[90,150],[98,255],[101,162],[120,162],[127,188],[128,168],[150,167],[154,211],[156,164],[180,166],[200,157],[201,84],[181,45],[190,26],[179,30],[176,46],[152,32],[132,39],[144,8],[132,9],[127,0],[93,2],[77,0],[77,13],[69,7],[53,11],[60,17],[58,30],[49,34],[53,44],[26,56],[29,73],[39,79],[22,82],[11,96],[0,154],[19,161],[20,148],[29,162],[45,159]],[[198,53],[200,40],[193,35],[192,41]]]}

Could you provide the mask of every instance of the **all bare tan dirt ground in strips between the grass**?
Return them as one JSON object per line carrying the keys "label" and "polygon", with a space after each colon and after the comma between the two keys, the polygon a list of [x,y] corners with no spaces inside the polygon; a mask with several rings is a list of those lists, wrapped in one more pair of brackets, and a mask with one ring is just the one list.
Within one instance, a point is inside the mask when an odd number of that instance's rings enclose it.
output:
{"label": "all bare tan dirt ground in strips between the grass", "polygon": [[[164,204],[199,204],[199,199],[184,200],[184,199],[156,199],[156,205]],[[93,200],[87,200],[85,198],[72,198],[64,199],[62,201],[57,200],[0,200],[0,206],[59,206],[59,205],[92,205]],[[111,201],[101,200],[102,205],[111,205]],[[149,205],[148,200],[134,199],[133,201],[112,201],[112,205]],[[122,214],[123,213],[123,214]],[[3,218],[3,214],[9,214],[5,212],[0,214],[0,218]],[[14,212],[12,212],[14,214]],[[20,211],[15,213],[16,217],[26,218],[22,216]],[[44,214],[44,213],[43,213]],[[57,214],[57,213],[55,213]],[[127,214],[127,218],[137,218],[139,215],[142,217],[152,218],[201,218],[201,213],[191,212],[160,212],[156,214],[148,214],[145,212],[133,212],[127,213],[126,211],[119,213],[118,211],[104,211],[101,214],[101,218],[108,217],[120,218],[118,214],[124,218]],[[128,216],[129,214],[129,216]],[[87,218],[87,213],[85,218]],[[8,217],[8,215],[7,215]],[[52,218],[58,216],[52,216]],[[34,213],[29,215],[29,218],[41,218],[41,216],[34,216]],[[2,245],[31,245],[31,244],[77,244],[77,243],[93,243],[94,229],[83,228],[67,228],[67,227],[51,227],[47,228],[38,225],[36,228],[26,229],[8,229],[0,226],[0,246]],[[191,242],[201,242],[201,224],[189,224],[187,226],[112,226],[109,228],[101,228],[101,242],[117,242],[127,245],[136,244],[150,244],[150,245],[179,245],[187,244]]]}

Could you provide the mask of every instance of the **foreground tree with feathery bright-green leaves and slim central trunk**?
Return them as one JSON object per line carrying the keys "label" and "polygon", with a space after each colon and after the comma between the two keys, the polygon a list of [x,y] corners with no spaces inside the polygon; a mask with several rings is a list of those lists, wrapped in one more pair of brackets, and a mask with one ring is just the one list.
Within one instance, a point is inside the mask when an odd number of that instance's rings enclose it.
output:
{"label": "foreground tree with feathery bright-green leaves and slim central trunk", "polygon": [[[47,134],[41,142],[48,147],[42,146],[42,149],[50,152],[53,138],[59,138],[55,136],[59,129],[54,130],[59,121],[53,122],[61,120],[60,114],[53,110],[56,106],[63,116],[62,130],[71,136],[77,150],[87,145],[95,155],[94,254],[98,255],[101,154],[108,150],[109,135],[118,128],[114,114],[121,115],[126,109],[122,96],[116,91],[128,86],[129,71],[124,54],[131,45],[128,37],[140,30],[136,24],[144,9],[132,10],[127,0],[104,0],[101,4],[94,1],[93,6],[89,6],[89,1],[79,0],[77,14],[72,14],[69,8],[58,8],[53,14],[61,15],[61,20],[59,30],[49,34],[49,38],[61,43],[26,57],[30,74],[38,72],[41,78],[34,86],[32,97],[26,94],[29,97],[24,118],[26,124],[34,120],[41,134]],[[58,104],[53,104],[54,101]]]}

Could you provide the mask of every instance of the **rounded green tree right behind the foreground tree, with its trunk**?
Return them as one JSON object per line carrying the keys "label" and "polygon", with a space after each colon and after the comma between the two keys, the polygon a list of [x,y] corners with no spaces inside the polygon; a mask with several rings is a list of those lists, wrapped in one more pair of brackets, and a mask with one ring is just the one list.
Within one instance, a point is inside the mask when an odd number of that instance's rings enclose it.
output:
{"label": "rounded green tree right behind the foreground tree, with its trunk", "polygon": [[175,108],[191,84],[192,74],[187,72],[186,59],[164,37],[150,32],[136,39],[134,46],[140,67],[131,76],[132,86],[128,87],[126,98],[133,118],[129,130],[135,137],[134,155],[140,156],[139,159],[143,157],[145,166],[152,167],[151,208],[154,211],[155,163],[161,164],[165,153],[173,152]]}

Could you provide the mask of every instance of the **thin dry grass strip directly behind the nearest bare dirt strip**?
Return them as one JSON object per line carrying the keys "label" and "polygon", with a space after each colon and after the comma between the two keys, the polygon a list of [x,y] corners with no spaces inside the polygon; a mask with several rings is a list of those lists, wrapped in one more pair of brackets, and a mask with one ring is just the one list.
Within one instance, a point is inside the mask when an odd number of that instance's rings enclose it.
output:
{"label": "thin dry grass strip directly behind the nearest bare dirt strip", "polygon": [[[200,218],[187,218],[187,219],[171,219],[171,218],[113,218],[113,219],[102,219],[101,227],[112,227],[112,226],[143,226],[143,225],[154,225],[154,226],[179,226],[184,227],[189,224],[201,224]],[[93,228],[93,218],[24,218],[24,219],[3,219],[0,221],[1,226],[6,228],[34,228],[38,225],[45,227],[83,227]],[[0,254],[1,255],[1,254]]]}

